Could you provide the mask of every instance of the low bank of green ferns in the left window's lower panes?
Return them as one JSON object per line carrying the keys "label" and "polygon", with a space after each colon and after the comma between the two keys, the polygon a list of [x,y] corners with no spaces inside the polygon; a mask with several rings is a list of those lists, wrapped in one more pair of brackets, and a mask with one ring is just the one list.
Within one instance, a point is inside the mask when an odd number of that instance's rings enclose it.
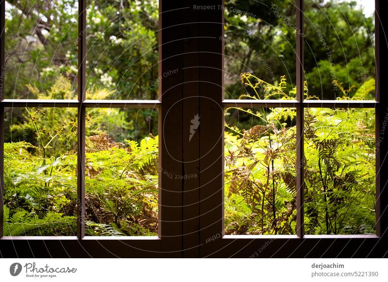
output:
{"label": "low bank of green ferns in the left window's lower panes", "polygon": [[[86,234],[156,235],[158,137],[121,144],[102,134],[89,142]],[[4,148],[5,235],[75,235],[77,154],[44,156],[27,142]]]}

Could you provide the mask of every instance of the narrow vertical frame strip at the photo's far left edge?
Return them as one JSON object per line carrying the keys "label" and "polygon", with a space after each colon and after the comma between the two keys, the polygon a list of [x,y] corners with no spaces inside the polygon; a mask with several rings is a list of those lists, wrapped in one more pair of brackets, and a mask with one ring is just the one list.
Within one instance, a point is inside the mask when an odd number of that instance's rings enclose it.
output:
{"label": "narrow vertical frame strip at the photo's far left edge", "polygon": [[[5,0],[0,2],[0,101],[4,99],[5,63]],[[4,107],[0,107],[0,238],[3,233],[4,213]]]}

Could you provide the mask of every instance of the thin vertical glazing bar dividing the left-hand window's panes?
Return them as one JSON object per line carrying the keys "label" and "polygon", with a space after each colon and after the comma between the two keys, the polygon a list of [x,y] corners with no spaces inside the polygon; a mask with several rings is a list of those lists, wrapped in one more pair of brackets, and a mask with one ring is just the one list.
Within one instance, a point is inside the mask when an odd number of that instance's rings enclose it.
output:
{"label": "thin vertical glazing bar dividing the left-hand window's panes", "polygon": [[78,161],[77,161],[77,236],[85,236],[85,55],[86,0],[78,1]]}

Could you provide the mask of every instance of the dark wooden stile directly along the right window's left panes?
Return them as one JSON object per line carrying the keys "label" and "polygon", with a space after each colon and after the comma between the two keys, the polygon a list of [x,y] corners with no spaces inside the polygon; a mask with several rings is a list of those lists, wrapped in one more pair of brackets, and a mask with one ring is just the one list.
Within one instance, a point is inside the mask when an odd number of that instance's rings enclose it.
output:
{"label": "dark wooden stile directly along the right window's left panes", "polygon": [[[202,1],[205,3],[205,1]],[[206,2],[222,7],[224,1]],[[219,250],[224,234],[223,9],[201,10],[200,18],[200,256]],[[210,242],[209,238],[216,238]]]}

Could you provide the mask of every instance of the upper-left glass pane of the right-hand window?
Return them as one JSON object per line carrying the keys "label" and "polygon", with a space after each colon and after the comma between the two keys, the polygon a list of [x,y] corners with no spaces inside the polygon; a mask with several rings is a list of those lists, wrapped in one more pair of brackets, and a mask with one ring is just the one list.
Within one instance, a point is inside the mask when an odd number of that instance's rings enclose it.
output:
{"label": "upper-left glass pane of the right-hand window", "polygon": [[[268,93],[271,85],[281,85],[294,98],[295,1],[226,0],[224,10],[225,98],[284,98]],[[247,73],[259,84],[250,87]]]}

